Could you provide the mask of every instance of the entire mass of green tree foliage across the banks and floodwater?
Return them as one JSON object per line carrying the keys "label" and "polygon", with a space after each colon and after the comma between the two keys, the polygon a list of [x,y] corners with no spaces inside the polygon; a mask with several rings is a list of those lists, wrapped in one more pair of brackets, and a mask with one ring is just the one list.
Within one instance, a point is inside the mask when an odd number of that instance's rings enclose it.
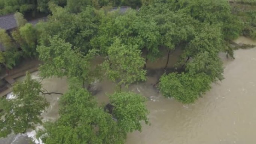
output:
{"label": "entire mass of green tree foliage across the banks and floodwater", "polygon": [[[240,3],[251,9],[237,8]],[[167,55],[158,89],[190,104],[224,79],[218,54],[234,58],[230,41],[240,34],[256,38],[255,3],[231,5],[227,0],[0,0],[0,15],[18,11],[18,27],[0,29],[5,48],[0,63],[12,68],[22,57],[36,57],[42,78],[67,77],[60,118],[44,123],[38,135],[45,144],[124,144],[128,132],[149,122],[146,99],[121,88],[146,81],[148,61]],[[116,6],[129,7],[112,9]],[[49,14],[47,21],[33,25],[22,15],[38,11]],[[180,59],[168,71],[169,56],[178,49]],[[104,60],[93,64],[97,56]],[[99,107],[89,92],[103,76],[119,87],[109,94],[111,111]],[[40,83],[29,76],[13,91],[16,99],[0,101],[0,137],[41,123],[48,105],[39,95]]]}

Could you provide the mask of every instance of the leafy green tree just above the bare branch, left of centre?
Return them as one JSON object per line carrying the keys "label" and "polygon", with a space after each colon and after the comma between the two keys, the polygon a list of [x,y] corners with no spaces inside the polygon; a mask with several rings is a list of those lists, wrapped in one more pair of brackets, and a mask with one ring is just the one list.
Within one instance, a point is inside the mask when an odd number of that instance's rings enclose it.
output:
{"label": "leafy green tree just above the bare branch, left of centre", "polygon": [[39,59],[44,63],[40,65],[40,75],[46,77],[77,77],[81,82],[92,82],[96,77],[91,69],[91,59],[94,58],[95,51],[90,51],[86,56],[75,49],[70,43],[66,43],[58,36],[50,40],[50,46],[37,47]]}

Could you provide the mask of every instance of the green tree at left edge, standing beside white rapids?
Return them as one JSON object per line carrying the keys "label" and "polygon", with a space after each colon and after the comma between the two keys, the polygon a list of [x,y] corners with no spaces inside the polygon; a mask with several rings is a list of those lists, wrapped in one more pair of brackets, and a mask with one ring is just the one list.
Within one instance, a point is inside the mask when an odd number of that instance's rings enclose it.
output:
{"label": "green tree at left edge, standing beside white rapids", "polygon": [[0,100],[0,137],[6,137],[12,131],[25,133],[27,129],[42,123],[40,114],[48,107],[48,102],[40,96],[41,84],[27,74],[22,83],[13,87],[14,99]]}

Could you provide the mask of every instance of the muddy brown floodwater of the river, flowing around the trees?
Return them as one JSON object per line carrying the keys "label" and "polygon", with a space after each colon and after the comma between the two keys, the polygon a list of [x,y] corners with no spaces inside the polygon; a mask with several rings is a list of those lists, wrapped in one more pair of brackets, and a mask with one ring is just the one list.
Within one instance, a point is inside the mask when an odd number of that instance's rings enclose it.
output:
{"label": "muddy brown floodwater of the river, flowing around the trees", "polygon": [[[240,37],[237,43],[254,44],[250,39]],[[179,51],[170,56],[169,64],[177,61]],[[235,60],[223,59],[225,79],[212,84],[212,89],[195,104],[183,105],[163,96],[152,86],[165,66],[166,56],[147,65],[150,72],[145,83],[132,85],[129,91],[146,96],[149,101],[150,126],[143,126],[142,132],[128,134],[126,144],[255,144],[256,143],[256,48],[235,51]],[[33,77],[40,80],[38,73]],[[22,78],[21,78],[22,79]],[[65,79],[45,79],[43,87],[49,92],[65,92]],[[100,102],[107,102],[106,93],[114,91],[114,84],[108,80],[95,83],[95,96]],[[59,95],[46,96],[51,103],[44,120],[58,117]],[[0,144],[27,144],[27,135],[11,135],[0,140]]]}

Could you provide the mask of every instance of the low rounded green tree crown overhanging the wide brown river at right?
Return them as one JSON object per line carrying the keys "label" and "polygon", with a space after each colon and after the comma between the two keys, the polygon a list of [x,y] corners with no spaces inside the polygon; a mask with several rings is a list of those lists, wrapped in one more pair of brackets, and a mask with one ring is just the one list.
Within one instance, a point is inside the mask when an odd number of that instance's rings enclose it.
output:
{"label": "low rounded green tree crown overhanging the wide brown river at right", "polygon": [[170,73],[161,76],[159,90],[168,98],[173,97],[179,102],[190,104],[211,88],[210,83],[210,77],[204,73]]}

